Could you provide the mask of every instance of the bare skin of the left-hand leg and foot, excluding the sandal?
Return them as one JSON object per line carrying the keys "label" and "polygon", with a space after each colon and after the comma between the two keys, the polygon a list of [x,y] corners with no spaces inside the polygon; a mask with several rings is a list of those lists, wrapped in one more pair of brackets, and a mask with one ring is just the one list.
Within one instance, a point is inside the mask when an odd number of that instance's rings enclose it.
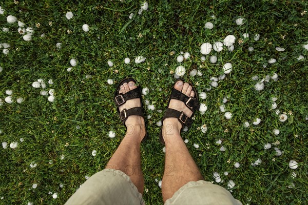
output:
{"label": "bare skin of the left-hand leg and foot, excluding the sandal", "polygon": [[[131,81],[121,86],[120,93],[126,93],[129,90],[137,88]],[[120,107],[120,111],[124,108],[129,109],[141,105],[140,99],[127,100],[126,103]],[[106,168],[121,170],[128,175],[137,187],[138,191],[143,194],[144,178],[141,170],[140,161],[140,143],[145,136],[144,119],[140,116],[129,116],[125,121],[127,132],[120,146],[114,152],[109,160]]]}

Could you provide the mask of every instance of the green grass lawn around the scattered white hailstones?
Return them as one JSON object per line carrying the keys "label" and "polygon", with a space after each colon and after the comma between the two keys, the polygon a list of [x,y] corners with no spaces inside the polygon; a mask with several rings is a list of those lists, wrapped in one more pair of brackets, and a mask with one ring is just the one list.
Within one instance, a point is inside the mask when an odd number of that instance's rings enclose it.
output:
{"label": "green grass lawn around the scattered white hailstones", "polygon": [[[7,149],[0,149],[0,197],[4,197],[1,204],[64,203],[85,181],[86,175],[104,169],[125,133],[112,98],[117,83],[126,76],[134,77],[141,87],[150,88],[144,100],[155,102],[156,110],[145,113],[152,118],[147,122],[148,140],[141,148],[145,189],[148,189],[143,197],[148,204],[162,204],[161,189],[155,179],[161,180],[163,175],[163,146],[159,142],[160,128],[156,126],[163,113],[157,110],[167,106],[175,81],[170,71],[180,65],[176,60],[180,51],[191,54],[190,59],[182,63],[187,70],[184,78],[191,81],[198,92],[205,91],[210,76],[221,74],[225,63],[233,65],[233,71],[201,100],[208,107],[205,114],[198,112],[189,132],[183,134],[183,138],[189,139],[188,149],[205,179],[213,181],[213,172],[219,172],[224,180],[219,185],[225,188],[232,179],[236,183],[232,194],[243,204],[303,204],[308,193],[305,120],[308,51],[302,45],[308,41],[308,14],[301,16],[301,12],[308,10],[308,3],[156,1],[149,2],[149,9],[138,15],[141,3],[0,2],[5,9],[4,15],[0,15],[1,25],[10,29],[0,32],[0,43],[10,44],[9,54],[0,54],[3,68],[0,98],[4,100],[7,89],[13,90],[14,99],[25,98],[22,104],[0,106],[3,132],[0,141],[8,142]],[[70,20],[65,17],[68,11],[74,14]],[[135,15],[130,20],[131,12]],[[7,23],[8,15],[16,16],[35,30],[30,42],[17,32],[17,23]],[[235,24],[238,17],[246,19],[244,25]],[[212,22],[214,28],[204,29],[206,22]],[[41,26],[36,28],[36,23]],[[90,26],[88,33],[82,31],[83,24]],[[73,32],[68,34],[68,29]],[[42,33],[45,37],[40,37]],[[140,33],[142,37],[138,37]],[[239,45],[237,42],[243,33],[250,37]],[[257,42],[253,39],[256,33],[261,36]],[[222,42],[229,34],[237,38],[235,50],[211,51],[202,63],[200,45]],[[61,49],[55,46],[58,42],[62,43]],[[255,50],[249,52],[248,47]],[[285,48],[285,51],[278,52],[275,47]],[[170,55],[171,51],[175,54]],[[137,65],[134,58],[139,55],[147,59]],[[217,55],[217,64],[209,63],[210,55]],[[305,59],[298,61],[299,55]],[[125,57],[130,58],[129,65],[124,64]],[[78,65],[68,73],[70,58],[76,58]],[[276,58],[277,63],[267,65],[269,58]],[[111,68],[107,65],[108,59],[114,63]],[[118,73],[114,73],[116,69]],[[203,75],[190,77],[192,69],[201,70]],[[256,81],[252,76],[262,79],[274,72],[279,76],[277,82],[270,80],[262,91],[254,89]],[[92,78],[86,79],[86,75]],[[46,82],[53,79],[54,84],[47,84],[46,88],[55,90],[53,103],[47,96],[40,95],[41,89],[32,87],[38,78]],[[109,78],[115,81],[111,86],[107,84]],[[230,120],[219,110],[226,96],[226,111],[233,113]],[[277,109],[281,113],[293,112],[292,116],[288,114],[287,121],[279,122],[271,110],[273,96],[278,97]],[[256,117],[261,118],[261,123],[254,126],[252,122]],[[249,128],[242,126],[245,121],[251,124]],[[207,125],[206,133],[197,130],[203,124]],[[279,135],[272,133],[274,128],[280,130]],[[115,138],[108,137],[110,130],[116,132]],[[24,142],[20,142],[21,137]],[[222,140],[225,152],[215,144],[218,139]],[[263,149],[266,142],[277,140],[280,142],[277,147],[283,151],[280,157],[275,155],[274,146]],[[18,141],[16,149],[9,147],[13,141]],[[194,143],[200,148],[194,148]],[[91,155],[94,149],[98,153],[95,157]],[[61,155],[65,155],[63,160]],[[262,160],[261,165],[251,166],[257,158]],[[296,170],[288,167],[291,159],[298,162]],[[53,160],[52,165],[49,160]],[[30,168],[33,161],[37,167]],[[240,168],[234,168],[235,162],[240,163]],[[225,171],[229,172],[228,176],[223,175]],[[294,179],[292,171],[297,174]],[[295,188],[288,188],[292,182]],[[32,189],[33,183],[37,183],[36,189]],[[58,198],[53,199],[49,191],[57,192]]]}

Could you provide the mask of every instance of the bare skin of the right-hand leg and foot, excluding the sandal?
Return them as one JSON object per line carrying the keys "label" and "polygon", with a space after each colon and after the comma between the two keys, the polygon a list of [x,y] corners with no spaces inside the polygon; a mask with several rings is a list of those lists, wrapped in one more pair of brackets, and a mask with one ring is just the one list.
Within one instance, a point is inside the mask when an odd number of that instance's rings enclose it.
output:
{"label": "bare skin of the right-hand leg and foot, excluding the sandal", "polygon": [[[175,88],[187,96],[194,97],[189,84],[178,81]],[[171,99],[169,108],[183,111],[188,116],[192,112],[179,100]],[[192,159],[181,135],[181,123],[177,118],[166,118],[163,124],[163,138],[166,144],[165,171],[162,181],[164,202],[189,181],[203,180],[194,159]]]}

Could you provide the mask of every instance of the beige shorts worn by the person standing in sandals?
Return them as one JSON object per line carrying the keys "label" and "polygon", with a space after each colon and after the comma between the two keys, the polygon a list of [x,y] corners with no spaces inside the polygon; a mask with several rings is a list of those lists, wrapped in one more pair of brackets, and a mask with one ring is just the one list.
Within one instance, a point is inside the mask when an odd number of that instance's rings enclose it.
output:
{"label": "beige shorts worn by the person standing in sandals", "polygon": [[[145,204],[129,176],[105,169],[91,176],[65,204]],[[208,181],[190,181],[165,204],[242,204],[226,189]]]}

